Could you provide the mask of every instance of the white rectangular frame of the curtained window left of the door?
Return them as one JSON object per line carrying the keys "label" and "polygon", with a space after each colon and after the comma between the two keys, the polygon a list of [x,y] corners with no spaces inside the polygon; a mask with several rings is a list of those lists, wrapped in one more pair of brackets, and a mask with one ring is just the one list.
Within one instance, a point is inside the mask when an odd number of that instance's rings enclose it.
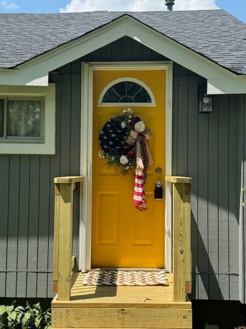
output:
{"label": "white rectangular frame of the curtained window left of the door", "polygon": [[[5,137],[0,137],[0,154],[55,154],[55,84],[46,86],[0,86],[5,100]],[[7,136],[7,100],[40,100],[40,137]]]}

